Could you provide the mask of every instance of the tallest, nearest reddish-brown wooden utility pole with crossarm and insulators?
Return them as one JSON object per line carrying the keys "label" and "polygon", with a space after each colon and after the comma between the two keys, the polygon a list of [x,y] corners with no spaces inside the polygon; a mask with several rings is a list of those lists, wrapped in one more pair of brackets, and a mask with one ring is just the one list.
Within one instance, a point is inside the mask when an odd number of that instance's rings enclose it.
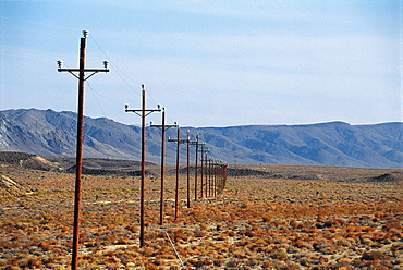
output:
{"label": "tallest, nearest reddish-brown wooden utility pole with crossarm and insulators", "polygon": [[[83,30],[84,37],[80,40],[80,64],[78,69],[62,69],[63,61],[58,61],[59,72],[69,72],[78,78],[78,112],[77,112],[77,145],[76,145],[76,164],[75,164],[75,194],[74,194],[74,229],[73,229],[73,255],[72,270],[78,269],[78,237],[81,221],[81,186],[83,170],[83,130],[84,130],[84,87],[85,81],[98,72],[109,72],[108,61],[103,61],[105,69],[85,69],[85,46],[87,40],[87,30]],[[78,72],[78,76],[74,73]],[[91,74],[85,77],[85,72]]]}

